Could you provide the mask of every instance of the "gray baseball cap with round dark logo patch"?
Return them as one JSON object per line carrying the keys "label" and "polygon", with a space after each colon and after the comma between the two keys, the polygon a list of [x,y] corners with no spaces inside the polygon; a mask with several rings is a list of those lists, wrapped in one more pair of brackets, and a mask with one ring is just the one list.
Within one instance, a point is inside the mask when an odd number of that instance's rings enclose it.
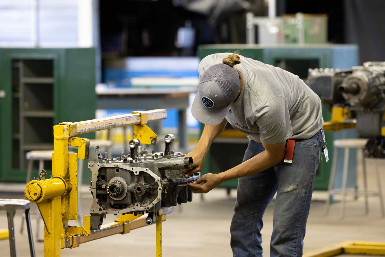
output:
{"label": "gray baseball cap with round dark logo patch", "polygon": [[192,102],[192,116],[201,123],[218,125],[226,117],[238,90],[239,74],[235,69],[222,63],[209,67]]}

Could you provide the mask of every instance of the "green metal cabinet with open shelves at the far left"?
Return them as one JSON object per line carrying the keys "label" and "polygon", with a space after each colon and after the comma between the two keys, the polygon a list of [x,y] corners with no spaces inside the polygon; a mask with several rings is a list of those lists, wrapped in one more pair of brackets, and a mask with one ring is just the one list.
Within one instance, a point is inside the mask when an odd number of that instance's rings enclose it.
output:
{"label": "green metal cabinet with open shelves at the far left", "polygon": [[25,154],[53,149],[55,124],[95,118],[95,49],[0,48],[0,91],[0,181],[25,182]]}

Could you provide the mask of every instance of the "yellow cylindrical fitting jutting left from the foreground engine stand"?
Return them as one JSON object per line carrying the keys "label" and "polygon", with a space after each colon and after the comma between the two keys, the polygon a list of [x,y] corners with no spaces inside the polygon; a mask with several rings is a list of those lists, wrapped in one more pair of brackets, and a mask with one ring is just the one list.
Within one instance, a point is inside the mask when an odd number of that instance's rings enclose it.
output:
{"label": "yellow cylindrical fitting jutting left from the foreground engine stand", "polygon": [[32,180],[25,186],[24,194],[32,203],[39,203],[65,193],[65,183],[60,178]]}

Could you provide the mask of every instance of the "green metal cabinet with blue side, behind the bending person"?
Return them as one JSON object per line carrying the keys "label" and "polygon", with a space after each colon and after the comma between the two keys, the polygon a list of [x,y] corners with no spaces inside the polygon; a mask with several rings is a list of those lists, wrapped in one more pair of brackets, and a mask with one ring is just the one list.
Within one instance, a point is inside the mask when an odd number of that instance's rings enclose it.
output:
{"label": "green metal cabinet with blue side, behind the bending person", "polygon": [[[218,45],[201,45],[198,47],[198,56],[203,59],[207,55],[221,52],[235,52],[244,57],[249,57],[254,60],[260,60],[266,64],[286,69],[302,79],[307,77],[309,68],[330,67],[345,69],[358,65],[358,47],[357,45],[335,45],[335,44],[307,44],[307,45],[246,45],[246,44],[218,44]],[[331,113],[322,106],[323,119],[330,120]],[[201,125],[203,131],[204,125]],[[332,142],[338,138],[356,138],[355,130],[345,130],[340,132],[325,133],[328,143],[328,151],[330,161],[325,162],[325,158],[320,163],[315,178],[315,190],[326,190],[331,170],[331,159],[333,156]],[[247,148],[246,142],[239,142],[239,139],[229,139],[226,143],[221,139],[219,142],[214,142],[211,146],[206,161],[204,163],[202,173],[218,173],[239,164],[242,161],[244,150]],[[218,149],[226,149],[226,153],[230,154],[233,161],[221,159],[223,153]],[[342,153],[341,153],[342,154]],[[218,156],[216,156],[218,155]],[[228,155],[227,155],[228,156]],[[355,160],[355,153],[351,153],[351,160]],[[230,159],[230,158],[228,158]],[[222,161],[213,161],[222,160]],[[337,168],[340,165],[337,166]],[[356,167],[352,161],[349,169],[352,176],[355,176]],[[352,172],[353,171],[353,172]],[[350,184],[355,183],[353,178],[350,178]],[[338,184],[338,178],[336,178]],[[221,187],[236,188],[238,180],[231,180],[221,184]]]}

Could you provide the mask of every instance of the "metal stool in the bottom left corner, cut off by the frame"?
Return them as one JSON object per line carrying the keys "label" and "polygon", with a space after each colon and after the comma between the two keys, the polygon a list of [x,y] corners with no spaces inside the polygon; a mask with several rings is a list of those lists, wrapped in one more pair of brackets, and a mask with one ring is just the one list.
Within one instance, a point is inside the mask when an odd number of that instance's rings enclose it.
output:
{"label": "metal stool in the bottom left corner, cut off by the frame", "polygon": [[31,229],[31,220],[29,217],[29,208],[30,208],[30,203],[28,200],[0,199],[0,210],[7,211],[9,247],[10,247],[11,257],[16,257],[15,226],[13,223],[13,217],[15,217],[16,210],[25,210],[25,220],[27,221],[29,250],[30,250],[31,256],[35,257],[35,248],[33,247],[33,237],[32,237],[32,229]]}

